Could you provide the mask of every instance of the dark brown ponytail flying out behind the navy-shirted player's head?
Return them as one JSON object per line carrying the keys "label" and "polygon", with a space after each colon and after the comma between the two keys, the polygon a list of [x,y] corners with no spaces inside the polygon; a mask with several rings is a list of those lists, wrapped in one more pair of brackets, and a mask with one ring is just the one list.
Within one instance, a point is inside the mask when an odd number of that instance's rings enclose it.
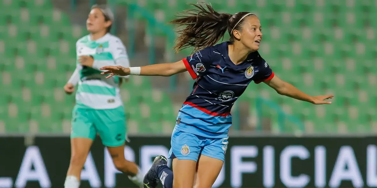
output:
{"label": "dark brown ponytail flying out behind the navy-shirted player's head", "polygon": [[219,13],[207,3],[191,4],[196,9],[183,12],[178,19],[170,23],[185,26],[178,31],[179,37],[174,49],[178,53],[182,49],[194,47],[194,51],[215,45],[230,27],[231,14]]}

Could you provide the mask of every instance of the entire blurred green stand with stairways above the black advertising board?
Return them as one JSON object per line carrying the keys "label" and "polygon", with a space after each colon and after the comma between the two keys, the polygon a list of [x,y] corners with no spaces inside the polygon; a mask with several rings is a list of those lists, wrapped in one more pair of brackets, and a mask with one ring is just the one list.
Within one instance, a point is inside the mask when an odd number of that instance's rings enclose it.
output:
{"label": "entire blurred green stand with stairways above the black advertising board", "polygon": [[[131,66],[176,62],[167,24],[193,0],[1,0],[0,133],[69,133],[75,97],[63,86],[75,69],[75,42],[87,35],[90,6],[109,5],[112,33]],[[206,0],[215,10],[248,11],[262,24],[260,53],[283,80],[315,96],[314,106],[251,84],[233,108],[231,131],[354,133],[377,130],[376,0]],[[225,35],[224,41],[228,39]],[[192,89],[188,73],[132,76],[122,86],[130,134],[171,133]]]}

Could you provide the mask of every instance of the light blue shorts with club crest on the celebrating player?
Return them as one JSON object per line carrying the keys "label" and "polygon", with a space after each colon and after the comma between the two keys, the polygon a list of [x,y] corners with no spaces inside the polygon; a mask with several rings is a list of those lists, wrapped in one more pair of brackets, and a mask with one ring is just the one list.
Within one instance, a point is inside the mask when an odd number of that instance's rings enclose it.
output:
{"label": "light blue shorts with club crest on the celebrating player", "polygon": [[224,161],[228,138],[207,138],[174,128],[170,144],[169,159],[198,161],[199,155],[205,155]]}

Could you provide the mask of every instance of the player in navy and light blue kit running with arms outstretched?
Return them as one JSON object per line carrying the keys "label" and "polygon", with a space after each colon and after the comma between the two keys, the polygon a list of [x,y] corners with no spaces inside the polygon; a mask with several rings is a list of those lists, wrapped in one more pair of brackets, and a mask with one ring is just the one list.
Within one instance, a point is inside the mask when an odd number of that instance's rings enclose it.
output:
{"label": "player in navy and light blue kit running with arms outstretched", "polygon": [[[105,66],[101,74],[172,76],[189,71],[196,79],[193,91],[178,112],[172,133],[169,158],[173,171],[166,166],[166,158],[158,156],[144,177],[144,187],[154,188],[161,182],[164,188],[192,188],[197,171],[196,187],[210,188],[224,162],[231,126],[231,107],[251,81],[264,82],[277,93],[313,104],[332,95],[312,97],[277,77],[259,55],[262,40],[261,23],[250,12],[234,15],[220,14],[205,4],[172,23],[186,26],[180,30],[175,46],[178,52],[194,47],[196,52],[175,63],[144,67]],[[230,41],[216,44],[228,31]],[[174,182],[173,180],[174,172]]]}

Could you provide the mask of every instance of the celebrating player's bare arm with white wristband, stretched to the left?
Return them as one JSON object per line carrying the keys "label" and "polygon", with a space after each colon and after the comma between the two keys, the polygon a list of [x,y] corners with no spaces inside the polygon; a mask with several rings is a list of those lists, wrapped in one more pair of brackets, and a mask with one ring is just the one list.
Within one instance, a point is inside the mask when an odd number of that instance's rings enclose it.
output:
{"label": "celebrating player's bare arm with white wristband, stretched to the left", "polygon": [[183,61],[175,63],[163,63],[147,65],[143,67],[122,67],[122,66],[105,66],[100,70],[106,70],[101,74],[110,74],[106,78],[112,76],[127,76],[127,75],[140,75],[140,76],[172,76],[174,74],[183,73],[187,71]]}

